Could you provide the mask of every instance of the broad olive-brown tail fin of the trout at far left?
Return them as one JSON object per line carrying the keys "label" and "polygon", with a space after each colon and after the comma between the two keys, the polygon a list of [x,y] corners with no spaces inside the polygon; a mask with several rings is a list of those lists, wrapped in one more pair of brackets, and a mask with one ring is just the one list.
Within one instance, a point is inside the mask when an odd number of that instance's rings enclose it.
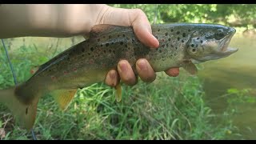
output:
{"label": "broad olive-brown tail fin of the trout at far left", "polygon": [[24,104],[14,95],[14,90],[15,87],[0,90],[0,102],[9,108],[18,123],[30,130],[34,126],[37,114],[38,97],[34,97],[34,100],[29,104]]}

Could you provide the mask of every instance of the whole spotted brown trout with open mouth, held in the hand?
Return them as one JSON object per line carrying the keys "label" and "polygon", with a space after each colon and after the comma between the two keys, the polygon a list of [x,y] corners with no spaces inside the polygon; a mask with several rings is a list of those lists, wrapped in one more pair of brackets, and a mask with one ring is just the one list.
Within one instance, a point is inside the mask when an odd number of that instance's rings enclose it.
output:
{"label": "whole spotted brown trout with open mouth, held in the hand", "polygon": [[[109,70],[117,70],[121,59],[135,62],[146,58],[155,72],[183,67],[196,74],[194,64],[225,58],[238,49],[228,47],[234,28],[214,24],[158,24],[152,32],[160,46],[152,49],[138,41],[132,27],[97,25],[90,37],[46,62],[26,82],[0,90],[0,102],[6,104],[18,122],[34,126],[38,99],[52,94],[65,110],[78,88],[104,82]],[[120,86],[118,86],[120,93]]]}

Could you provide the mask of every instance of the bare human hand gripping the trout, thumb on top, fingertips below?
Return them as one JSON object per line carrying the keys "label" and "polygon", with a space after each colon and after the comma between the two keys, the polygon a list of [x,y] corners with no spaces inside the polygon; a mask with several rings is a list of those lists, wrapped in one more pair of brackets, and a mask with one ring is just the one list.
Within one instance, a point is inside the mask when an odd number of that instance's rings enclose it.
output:
{"label": "bare human hand gripping the trout, thumb on top, fingertips below", "polygon": [[[112,24],[118,26],[133,26],[134,33],[138,39],[146,46],[151,48],[157,48],[159,42],[157,38],[152,35],[150,22],[146,18],[146,14],[139,9],[121,9],[106,6],[102,8],[102,18],[98,24]],[[156,74],[150,63],[144,59],[138,59],[136,62],[136,69],[138,76],[144,82],[154,82]],[[176,77],[179,74],[178,68],[172,68],[165,71],[167,75]],[[116,86],[120,81],[126,83],[129,86],[133,86],[137,83],[134,71],[132,70],[129,62],[121,60],[118,62],[118,71],[110,70],[106,75],[106,84],[109,86]]]}

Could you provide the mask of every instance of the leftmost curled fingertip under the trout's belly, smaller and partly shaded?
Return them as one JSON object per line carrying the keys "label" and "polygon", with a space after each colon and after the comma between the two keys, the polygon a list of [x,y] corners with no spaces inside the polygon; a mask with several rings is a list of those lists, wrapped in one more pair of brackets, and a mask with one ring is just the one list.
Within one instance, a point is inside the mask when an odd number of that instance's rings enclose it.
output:
{"label": "leftmost curled fingertip under the trout's belly, smaller and partly shaded", "polygon": [[120,77],[118,75],[117,70],[110,70],[106,74],[106,78],[105,78],[106,85],[114,87],[114,86],[117,86],[119,81],[120,81]]}

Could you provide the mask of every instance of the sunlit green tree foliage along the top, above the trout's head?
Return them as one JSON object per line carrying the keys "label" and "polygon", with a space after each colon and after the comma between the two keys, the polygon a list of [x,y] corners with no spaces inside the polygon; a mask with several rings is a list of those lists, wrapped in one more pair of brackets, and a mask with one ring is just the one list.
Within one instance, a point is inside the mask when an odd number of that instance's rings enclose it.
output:
{"label": "sunlit green tree foliage along the top, above the trout's head", "polygon": [[203,22],[256,27],[255,4],[112,4],[142,9],[150,22]]}

